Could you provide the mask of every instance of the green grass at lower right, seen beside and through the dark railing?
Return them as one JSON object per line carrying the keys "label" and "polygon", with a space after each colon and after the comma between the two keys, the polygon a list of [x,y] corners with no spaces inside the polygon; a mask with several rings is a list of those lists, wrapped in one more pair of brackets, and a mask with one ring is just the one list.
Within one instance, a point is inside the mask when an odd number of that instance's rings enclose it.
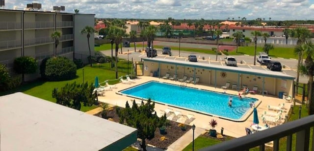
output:
{"label": "green grass at lower right, seen beside and through the dark railing", "polygon": [[[294,113],[290,115],[289,121],[294,121],[294,120],[299,119],[299,106],[295,106],[293,108],[293,112]],[[301,118],[302,117],[306,117],[306,116],[308,116],[308,108],[306,108],[306,105],[302,105]],[[311,147],[312,147],[312,135],[313,135],[312,131],[313,131],[313,129],[311,129],[311,132],[310,132],[310,150],[311,150]],[[293,134],[292,137],[293,137],[293,139],[292,139],[293,140],[293,142],[292,142],[292,151],[295,151],[296,134]],[[194,149],[195,149],[195,151],[198,151],[200,149],[203,149],[203,148],[206,148],[206,147],[209,147],[211,145],[215,145],[215,144],[218,144],[218,143],[221,143],[221,142],[222,141],[219,141],[219,140],[216,140],[216,139],[211,139],[211,138],[208,138],[208,137],[199,136],[199,137],[197,137],[194,140]],[[286,150],[286,145],[287,145],[287,137],[281,138],[280,141],[279,141],[279,144],[280,144],[279,151],[285,151]],[[186,146],[183,151],[192,151],[192,143],[190,143],[188,146]],[[259,147],[250,149],[250,151],[259,151]],[[272,151],[272,149],[266,147],[265,151]]]}

